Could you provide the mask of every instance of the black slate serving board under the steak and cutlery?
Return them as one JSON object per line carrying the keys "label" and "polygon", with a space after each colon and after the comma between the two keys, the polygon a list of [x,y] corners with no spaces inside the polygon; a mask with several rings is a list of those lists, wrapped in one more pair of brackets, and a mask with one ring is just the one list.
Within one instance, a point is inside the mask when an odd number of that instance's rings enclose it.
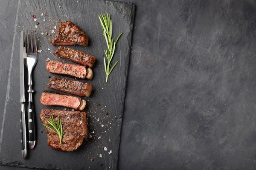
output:
{"label": "black slate serving board under the steak and cutlery", "polygon": [[[3,122],[1,122],[0,164],[44,169],[116,169],[134,9],[135,6],[132,3],[99,0],[19,1],[14,34],[14,51],[11,56],[10,87],[7,88],[9,96],[7,96],[5,114]],[[123,32],[113,58],[114,62],[119,60],[119,63],[111,73],[108,83],[105,83],[102,56],[104,54],[103,49],[106,49],[106,43],[98,19],[98,14],[106,11],[111,14],[113,37],[116,38],[120,32]],[[47,16],[41,16],[41,13],[46,13]],[[40,23],[38,28],[35,28],[33,14],[36,15],[36,22]],[[46,21],[44,22],[43,19]],[[93,80],[83,80],[84,82],[91,82],[94,89],[90,98],[86,98],[87,107],[85,109],[92,138],[84,141],[81,147],[73,152],[52,150],[47,145],[47,135],[39,120],[39,114],[43,108],[64,110],[61,107],[41,105],[39,97],[42,91],[47,90],[46,84],[49,81],[49,73],[45,68],[47,58],[68,62],[55,57],[52,52],[57,47],[49,43],[49,40],[52,39],[52,36],[49,36],[52,34],[51,29],[56,31],[54,26],[58,26],[59,22],[65,20],[79,25],[89,37],[89,46],[76,45],[71,48],[97,58],[93,67]],[[33,89],[35,90],[33,97],[38,139],[35,149],[28,150],[29,158],[23,160],[20,148],[19,41],[20,31],[26,29],[36,29],[36,37],[39,39],[38,49],[41,49],[42,52],[38,55],[38,63],[33,72]],[[47,32],[48,35],[41,35],[41,32]],[[52,35],[54,36],[55,32]],[[50,74],[50,76],[52,75]],[[100,103],[100,105],[96,105],[96,103]],[[98,139],[99,136],[100,139]],[[107,151],[102,149],[103,145],[108,148]],[[111,154],[108,153],[110,150],[112,151]],[[99,157],[99,154],[102,154],[102,158]],[[93,157],[93,161],[90,161],[91,157]],[[102,167],[99,166],[101,163],[103,164]]]}

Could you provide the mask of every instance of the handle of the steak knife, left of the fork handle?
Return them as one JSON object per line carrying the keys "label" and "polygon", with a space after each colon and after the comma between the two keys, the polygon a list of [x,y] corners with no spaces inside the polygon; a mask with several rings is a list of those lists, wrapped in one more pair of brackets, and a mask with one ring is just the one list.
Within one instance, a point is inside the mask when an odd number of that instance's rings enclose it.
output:
{"label": "handle of the steak knife, left of the fork handle", "polygon": [[25,108],[24,103],[21,103],[20,112],[20,143],[21,143],[21,153],[23,159],[26,159],[26,119],[25,119]]}

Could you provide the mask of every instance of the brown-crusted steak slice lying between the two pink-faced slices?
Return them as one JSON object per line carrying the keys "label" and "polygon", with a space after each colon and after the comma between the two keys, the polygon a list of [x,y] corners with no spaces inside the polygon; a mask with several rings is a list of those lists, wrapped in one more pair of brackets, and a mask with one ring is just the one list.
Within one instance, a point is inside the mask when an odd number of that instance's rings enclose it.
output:
{"label": "brown-crusted steak slice lying between the two pink-faced slices", "polygon": [[47,88],[86,97],[89,97],[93,91],[93,86],[90,83],[64,79],[56,76],[53,76],[50,79],[49,83],[47,84]]}

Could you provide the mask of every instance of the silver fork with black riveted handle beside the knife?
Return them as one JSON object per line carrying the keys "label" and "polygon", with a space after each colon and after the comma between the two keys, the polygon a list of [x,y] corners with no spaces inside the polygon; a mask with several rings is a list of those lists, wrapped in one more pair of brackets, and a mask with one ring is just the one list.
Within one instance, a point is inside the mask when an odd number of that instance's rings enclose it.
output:
{"label": "silver fork with black riveted handle beside the knife", "polygon": [[24,57],[24,63],[28,69],[28,85],[29,90],[27,91],[29,93],[29,102],[28,102],[28,110],[27,110],[27,125],[29,129],[29,139],[28,139],[28,145],[30,149],[33,149],[35,147],[36,142],[36,128],[35,128],[35,110],[34,110],[34,104],[32,99],[32,93],[34,90],[32,89],[32,70],[35,67],[37,61],[38,61],[38,53],[37,53],[37,47],[36,47],[36,39],[35,39],[35,32],[34,32],[34,47],[32,42],[32,33],[30,32],[30,48],[29,48],[29,33],[26,34],[27,37],[27,55]]}

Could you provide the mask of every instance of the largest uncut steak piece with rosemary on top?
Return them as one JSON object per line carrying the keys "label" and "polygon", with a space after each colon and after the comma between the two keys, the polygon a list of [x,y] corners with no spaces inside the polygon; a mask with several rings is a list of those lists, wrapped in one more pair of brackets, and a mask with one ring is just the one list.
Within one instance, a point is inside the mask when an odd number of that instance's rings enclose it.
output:
{"label": "largest uncut steak piece with rosemary on top", "polygon": [[41,122],[49,125],[46,119],[49,120],[51,115],[55,119],[55,122],[57,122],[59,115],[63,131],[65,131],[62,144],[60,144],[58,134],[45,127],[48,137],[47,142],[52,149],[71,152],[76,150],[84,139],[87,139],[88,128],[85,112],[42,109],[40,113]]}

